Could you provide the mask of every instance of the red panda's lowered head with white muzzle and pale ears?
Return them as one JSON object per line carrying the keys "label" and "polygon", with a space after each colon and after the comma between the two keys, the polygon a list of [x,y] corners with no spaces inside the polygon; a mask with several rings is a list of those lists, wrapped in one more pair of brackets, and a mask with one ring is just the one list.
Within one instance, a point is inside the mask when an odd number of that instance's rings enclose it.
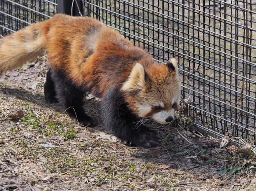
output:
{"label": "red panda's lowered head with white muzzle and pale ears", "polygon": [[146,70],[136,63],[122,90],[128,93],[128,106],[139,117],[168,124],[178,109],[181,96],[176,59],[171,59],[167,65],[154,64]]}

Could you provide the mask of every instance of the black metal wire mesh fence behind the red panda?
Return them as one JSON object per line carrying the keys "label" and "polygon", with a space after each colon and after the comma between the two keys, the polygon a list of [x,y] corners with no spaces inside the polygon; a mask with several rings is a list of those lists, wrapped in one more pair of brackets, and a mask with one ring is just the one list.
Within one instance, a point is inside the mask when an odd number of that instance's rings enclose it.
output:
{"label": "black metal wire mesh fence behind the red panda", "polygon": [[[25,14],[25,2],[37,11]],[[34,9],[31,2],[48,7]],[[178,59],[181,96],[188,100],[196,126],[256,141],[256,0],[82,3],[83,15],[119,30],[158,62]],[[55,7],[52,0],[1,0],[0,31],[5,35],[37,21],[33,15],[45,19]]]}

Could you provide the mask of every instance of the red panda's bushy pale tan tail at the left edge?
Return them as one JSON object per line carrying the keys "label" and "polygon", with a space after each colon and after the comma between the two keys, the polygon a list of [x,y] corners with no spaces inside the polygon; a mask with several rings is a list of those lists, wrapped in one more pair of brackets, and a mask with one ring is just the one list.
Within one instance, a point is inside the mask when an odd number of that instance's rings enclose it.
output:
{"label": "red panda's bushy pale tan tail at the left edge", "polygon": [[0,39],[0,76],[42,55],[48,29],[49,20],[46,20]]}

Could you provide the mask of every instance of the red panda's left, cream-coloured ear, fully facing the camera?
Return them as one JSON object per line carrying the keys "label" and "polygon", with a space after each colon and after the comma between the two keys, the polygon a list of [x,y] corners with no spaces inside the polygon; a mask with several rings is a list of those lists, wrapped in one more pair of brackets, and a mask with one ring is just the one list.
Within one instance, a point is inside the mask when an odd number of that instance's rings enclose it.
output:
{"label": "red panda's left, cream-coloured ear, fully facing the camera", "polygon": [[124,82],[122,86],[122,90],[132,90],[142,88],[145,84],[145,70],[140,63],[136,63],[133,66],[130,76],[126,82]]}

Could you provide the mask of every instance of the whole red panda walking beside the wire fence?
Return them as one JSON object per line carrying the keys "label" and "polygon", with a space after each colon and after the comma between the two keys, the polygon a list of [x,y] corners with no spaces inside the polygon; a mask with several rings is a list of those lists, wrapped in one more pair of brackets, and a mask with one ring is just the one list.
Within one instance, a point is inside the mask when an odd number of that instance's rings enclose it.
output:
{"label": "whole red panda walking beside the wire fence", "polygon": [[45,51],[47,103],[60,102],[72,120],[93,126],[83,108],[83,96],[90,92],[102,98],[105,127],[117,138],[146,148],[160,143],[141,119],[172,121],[181,94],[176,59],[159,64],[94,18],[57,14],[0,40],[0,75]]}

